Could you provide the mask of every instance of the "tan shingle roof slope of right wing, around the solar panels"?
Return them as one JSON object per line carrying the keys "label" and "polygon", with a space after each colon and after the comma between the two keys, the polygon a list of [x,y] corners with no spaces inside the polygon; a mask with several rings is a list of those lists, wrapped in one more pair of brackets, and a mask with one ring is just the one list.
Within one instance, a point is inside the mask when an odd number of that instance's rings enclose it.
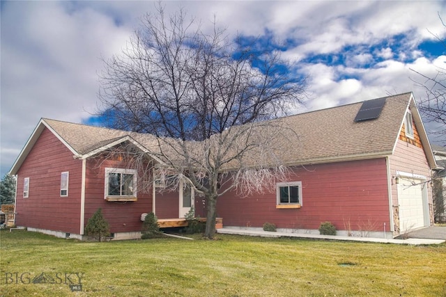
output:
{"label": "tan shingle roof slope of right wing, around the solar panels", "polygon": [[355,122],[362,102],[284,118],[296,135],[283,139],[286,163],[308,163],[353,158],[367,154],[391,154],[409,104],[410,93],[387,97],[374,120]]}

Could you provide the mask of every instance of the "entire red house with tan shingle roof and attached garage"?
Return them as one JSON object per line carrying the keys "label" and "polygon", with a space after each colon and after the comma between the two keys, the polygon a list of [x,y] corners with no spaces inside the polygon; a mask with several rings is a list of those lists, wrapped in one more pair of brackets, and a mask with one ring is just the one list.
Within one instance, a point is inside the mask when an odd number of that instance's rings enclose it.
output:
{"label": "entire red house with tan shingle roof and attached garage", "polygon": [[[225,226],[269,222],[279,230],[317,232],[330,221],[338,234],[392,237],[433,223],[429,179],[437,166],[412,93],[282,121],[297,132],[277,143],[294,174],[267,193],[218,198]],[[40,120],[10,170],[17,175],[16,225],[82,239],[100,207],[115,239],[128,239],[139,237],[143,213],[182,218],[194,206],[206,214],[193,188],[139,191],[146,181],[135,170],[119,155],[102,156],[129,143],[148,152],[157,142],[150,134]],[[148,161],[159,160],[148,155]]]}

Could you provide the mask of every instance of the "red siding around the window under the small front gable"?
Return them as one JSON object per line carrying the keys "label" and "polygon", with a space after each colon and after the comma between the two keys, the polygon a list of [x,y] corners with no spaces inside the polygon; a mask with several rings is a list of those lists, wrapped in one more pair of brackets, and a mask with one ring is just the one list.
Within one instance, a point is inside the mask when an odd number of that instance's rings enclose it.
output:
{"label": "red siding around the window under the small front gable", "polygon": [[141,231],[141,214],[152,211],[151,188],[142,191],[143,180],[137,180],[137,201],[112,202],[104,199],[105,168],[126,168],[119,161],[100,161],[91,159],[86,166],[85,216],[84,224],[93,216],[98,208],[109,222],[110,232],[138,232]]}

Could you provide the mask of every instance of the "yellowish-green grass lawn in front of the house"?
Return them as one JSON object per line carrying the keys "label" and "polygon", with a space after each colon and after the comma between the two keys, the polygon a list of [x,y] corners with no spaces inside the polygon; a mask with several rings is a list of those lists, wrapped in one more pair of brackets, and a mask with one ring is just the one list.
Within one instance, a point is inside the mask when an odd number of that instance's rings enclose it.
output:
{"label": "yellowish-green grass lawn in front of the house", "polygon": [[[446,296],[446,244],[0,236],[0,296]],[[26,283],[41,273],[54,283]],[[77,275],[64,273],[83,273],[82,291],[72,292]]]}

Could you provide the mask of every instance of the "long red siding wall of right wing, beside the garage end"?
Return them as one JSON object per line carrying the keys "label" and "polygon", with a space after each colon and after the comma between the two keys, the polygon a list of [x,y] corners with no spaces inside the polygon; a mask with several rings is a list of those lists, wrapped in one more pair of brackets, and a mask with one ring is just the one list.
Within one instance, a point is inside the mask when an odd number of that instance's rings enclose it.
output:
{"label": "long red siding wall of right wing, beside the garage end", "polygon": [[[217,216],[226,226],[318,229],[330,221],[337,230],[390,230],[385,159],[318,164],[295,168],[289,181],[302,182],[302,207],[276,209],[276,190],[238,198],[219,198]],[[350,227],[346,227],[347,224]]]}

